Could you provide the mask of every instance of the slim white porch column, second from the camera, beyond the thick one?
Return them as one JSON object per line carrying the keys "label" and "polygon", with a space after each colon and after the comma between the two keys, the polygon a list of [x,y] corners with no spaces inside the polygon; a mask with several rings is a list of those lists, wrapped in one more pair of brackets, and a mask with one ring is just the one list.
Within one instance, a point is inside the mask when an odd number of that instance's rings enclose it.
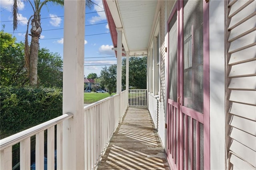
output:
{"label": "slim white porch column, second from the camera, beyond the thick one", "polygon": [[119,93],[118,113],[119,123],[122,123],[122,28],[116,28],[117,31],[117,65],[116,65],[116,93]]}

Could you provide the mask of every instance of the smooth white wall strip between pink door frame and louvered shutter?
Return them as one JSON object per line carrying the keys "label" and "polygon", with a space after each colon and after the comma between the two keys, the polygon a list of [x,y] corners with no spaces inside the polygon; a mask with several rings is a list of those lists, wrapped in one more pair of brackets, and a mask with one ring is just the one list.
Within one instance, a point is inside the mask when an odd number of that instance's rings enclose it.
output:
{"label": "smooth white wall strip between pink door frame and louvered shutter", "polygon": [[225,169],[224,1],[209,3],[210,32],[210,167]]}

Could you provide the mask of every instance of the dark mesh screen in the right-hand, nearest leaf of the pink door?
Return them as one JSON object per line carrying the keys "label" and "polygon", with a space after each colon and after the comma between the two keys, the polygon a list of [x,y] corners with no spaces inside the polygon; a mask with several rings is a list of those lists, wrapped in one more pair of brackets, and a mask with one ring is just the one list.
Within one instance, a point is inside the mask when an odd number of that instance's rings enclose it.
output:
{"label": "dark mesh screen in the right-hand, nearest leaf of the pink door", "polygon": [[184,1],[184,106],[203,112],[203,1]]}

